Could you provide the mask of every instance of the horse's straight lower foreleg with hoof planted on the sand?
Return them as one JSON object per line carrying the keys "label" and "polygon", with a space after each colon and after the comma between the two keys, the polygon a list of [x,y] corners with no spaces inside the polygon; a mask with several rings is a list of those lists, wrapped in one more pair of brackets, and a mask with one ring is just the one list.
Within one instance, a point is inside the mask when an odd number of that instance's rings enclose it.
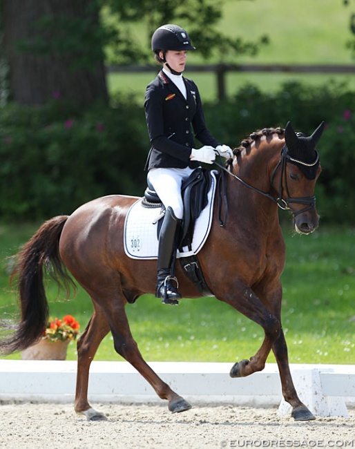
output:
{"label": "horse's straight lower foreleg with hoof planted on the sand", "polygon": [[291,372],[289,370],[287,344],[282,329],[281,335],[274,343],[272,350],[278,363],[283,397],[292,407],[291,416],[296,421],[309,421],[311,419],[316,419],[308,410],[306,405],[300,401],[296,393],[296,389],[294,388],[294,382],[292,381]]}

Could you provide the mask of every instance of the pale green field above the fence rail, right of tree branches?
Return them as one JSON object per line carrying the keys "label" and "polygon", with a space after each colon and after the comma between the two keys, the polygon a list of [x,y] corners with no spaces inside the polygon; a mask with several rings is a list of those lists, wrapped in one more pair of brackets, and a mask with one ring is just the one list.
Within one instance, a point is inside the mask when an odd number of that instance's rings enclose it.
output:
{"label": "pale green field above the fence rail, right of tree branches", "polygon": [[270,45],[256,58],[239,61],[278,64],[351,64],[345,43],[352,37],[349,17],[354,8],[342,1],[227,1],[221,29],[253,39],[268,35]]}

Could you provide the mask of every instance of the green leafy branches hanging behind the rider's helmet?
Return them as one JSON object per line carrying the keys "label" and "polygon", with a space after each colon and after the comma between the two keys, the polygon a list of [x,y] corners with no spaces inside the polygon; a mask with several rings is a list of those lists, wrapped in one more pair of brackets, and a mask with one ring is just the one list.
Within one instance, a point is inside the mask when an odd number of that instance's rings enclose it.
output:
{"label": "green leafy branches hanging behind the rider's helmet", "polygon": [[[164,23],[177,23],[186,28],[193,44],[202,57],[208,59],[215,53],[222,62],[226,55],[256,55],[260,46],[267,44],[262,35],[255,41],[230,37],[220,32],[218,21],[222,17],[222,1],[215,0],[102,0],[108,15],[116,17],[120,33],[112,61],[139,62],[151,58],[150,46],[137,46],[132,24],[140,23],[147,32],[148,41],[154,30]],[[113,52],[111,52],[113,54]]]}

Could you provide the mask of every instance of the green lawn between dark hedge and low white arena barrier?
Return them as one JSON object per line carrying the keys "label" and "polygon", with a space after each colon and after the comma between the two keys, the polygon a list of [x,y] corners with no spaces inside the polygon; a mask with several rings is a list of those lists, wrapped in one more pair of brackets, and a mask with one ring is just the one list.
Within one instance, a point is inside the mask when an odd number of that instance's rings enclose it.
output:
{"label": "green lawn between dark hedge and low white arena barrier", "polygon": [[[18,312],[15,293],[8,287],[6,257],[14,254],[35,229],[37,225],[0,227],[3,317],[14,317]],[[310,236],[294,236],[285,225],[284,235],[287,264],[282,274],[282,324],[290,362],[354,363],[355,229],[320,227]],[[92,306],[81,289],[76,298],[65,301],[50,285],[48,298],[53,316],[72,314],[84,329]],[[146,295],[126,309],[133,336],[147,361],[233,363],[255,354],[263,338],[258,325],[214,298],[182,300],[179,307],[165,307]],[[19,359],[20,354],[9,358]],[[72,343],[68,360],[75,359]],[[113,350],[111,335],[100,345],[95,360],[122,360]],[[274,363],[274,356],[268,361]]]}

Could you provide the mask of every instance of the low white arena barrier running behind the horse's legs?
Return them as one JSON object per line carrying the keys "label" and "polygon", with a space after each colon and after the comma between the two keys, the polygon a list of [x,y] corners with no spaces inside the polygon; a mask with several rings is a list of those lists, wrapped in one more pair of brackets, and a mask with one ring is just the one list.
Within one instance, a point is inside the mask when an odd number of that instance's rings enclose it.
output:
{"label": "low white arena barrier running behind the horse's legs", "polygon": [[[193,405],[231,403],[236,406],[277,406],[289,416],[282,399],[276,364],[241,379],[231,379],[230,363],[155,362],[151,367]],[[347,417],[355,404],[355,367],[352,365],[292,364],[291,374],[300,399],[316,416]],[[75,361],[3,360],[0,401],[72,402]],[[153,388],[126,362],[93,362],[89,397],[99,402],[157,402]]]}

